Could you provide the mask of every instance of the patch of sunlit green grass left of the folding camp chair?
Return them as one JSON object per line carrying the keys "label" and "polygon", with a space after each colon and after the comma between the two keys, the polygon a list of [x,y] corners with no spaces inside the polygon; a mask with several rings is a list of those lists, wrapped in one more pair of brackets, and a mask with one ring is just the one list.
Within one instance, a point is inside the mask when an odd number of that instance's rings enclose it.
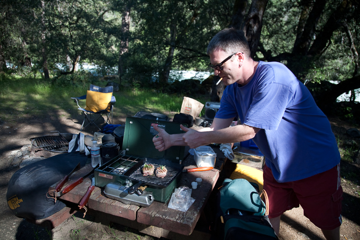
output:
{"label": "patch of sunlit green grass left of the folding camp chair", "polygon": [[[36,118],[48,115],[49,109],[60,108],[76,113],[71,97],[86,94],[86,88],[51,84],[42,78],[8,76],[0,81],[1,120]],[[69,111],[70,110],[70,111]]]}

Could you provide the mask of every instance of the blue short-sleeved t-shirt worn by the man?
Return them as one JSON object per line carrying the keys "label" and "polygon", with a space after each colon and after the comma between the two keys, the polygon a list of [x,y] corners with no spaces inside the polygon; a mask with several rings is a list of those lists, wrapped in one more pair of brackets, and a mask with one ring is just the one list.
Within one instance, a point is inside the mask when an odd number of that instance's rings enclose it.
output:
{"label": "blue short-sleeved t-shirt worn by the man", "polygon": [[252,140],[278,182],[313,176],[340,162],[327,117],[305,85],[281,63],[259,62],[247,85],[225,88],[216,118],[236,116],[260,128]]}

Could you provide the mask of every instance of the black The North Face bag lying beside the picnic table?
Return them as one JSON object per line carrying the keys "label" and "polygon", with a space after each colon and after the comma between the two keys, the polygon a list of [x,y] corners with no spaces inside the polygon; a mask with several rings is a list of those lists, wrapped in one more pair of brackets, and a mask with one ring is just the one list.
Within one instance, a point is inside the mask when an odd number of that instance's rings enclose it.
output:
{"label": "black The North Face bag lying beside the picnic table", "polygon": [[29,164],[16,171],[7,187],[6,201],[12,213],[20,218],[43,219],[60,211],[66,205],[47,198],[52,184],[60,181],[80,162],[85,166],[87,156],[70,152]]}

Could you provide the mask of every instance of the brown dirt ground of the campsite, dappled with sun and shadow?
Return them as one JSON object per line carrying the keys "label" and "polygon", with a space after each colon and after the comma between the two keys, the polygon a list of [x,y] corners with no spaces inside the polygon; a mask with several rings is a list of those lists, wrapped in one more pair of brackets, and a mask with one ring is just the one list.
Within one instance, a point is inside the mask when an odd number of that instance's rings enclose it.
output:
{"label": "brown dirt ground of the campsite, dappled with sun and shadow", "polygon": [[[126,228],[118,224],[100,222],[87,214],[76,213],[68,220],[53,230],[47,230],[27,222],[25,219],[15,217],[6,203],[8,181],[26,157],[19,154],[20,150],[26,152],[26,146],[31,143],[30,138],[52,134],[51,131],[60,133],[79,133],[81,126],[80,115],[70,116],[59,113],[56,116],[32,119],[13,119],[3,122],[0,119],[0,239],[32,240],[32,239],[87,239],[87,240],[155,240],[137,230]],[[353,126],[336,118],[329,119],[335,136],[348,139],[357,144],[359,138],[346,135],[346,130]],[[114,118],[113,124],[123,124],[125,118]],[[88,127],[83,131],[85,135],[93,135],[97,129]],[[25,147],[24,147],[25,146]],[[15,154],[15,155],[14,155]],[[16,156],[16,154],[18,154]],[[360,240],[360,166],[355,163],[342,162],[342,174],[352,179],[342,177],[344,189],[343,224],[340,228],[341,240]],[[355,180],[354,180],[355,179]],[[303,216],[301,207],[286,212],[281,218],[281,240],[324,240],[321,231]]]}

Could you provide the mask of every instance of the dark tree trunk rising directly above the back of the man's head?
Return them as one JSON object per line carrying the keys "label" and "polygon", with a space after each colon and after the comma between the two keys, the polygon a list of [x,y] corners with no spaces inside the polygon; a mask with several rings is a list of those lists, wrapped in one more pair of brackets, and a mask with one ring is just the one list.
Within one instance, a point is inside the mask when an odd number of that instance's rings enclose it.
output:
{"label": "dark tree trunk rising directly above the back of the man's head", "polygon": [[267,2],[268,0],[252,0],[248,16],[243,27],[246,39],[249,42],[252,58],[255,56],[257,46],[259,45],[262,17],[264,15]]}

